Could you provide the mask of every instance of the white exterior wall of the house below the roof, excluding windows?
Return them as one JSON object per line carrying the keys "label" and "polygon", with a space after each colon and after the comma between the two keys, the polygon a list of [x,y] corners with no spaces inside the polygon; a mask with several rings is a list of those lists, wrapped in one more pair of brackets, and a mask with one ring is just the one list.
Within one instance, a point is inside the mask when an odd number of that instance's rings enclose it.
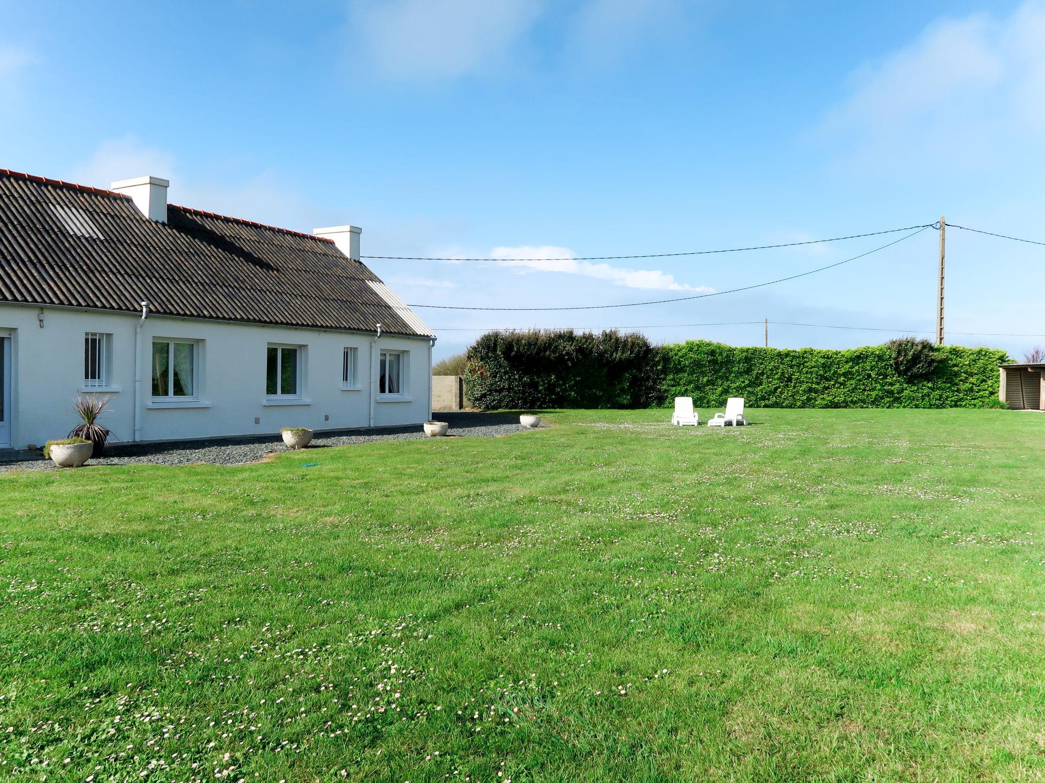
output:
{"label": "white exterior wall of the house below the roof, excluding windows", "polygon": [[[40,308],[0,303],[0,336],[10,336],[11,446],[43,445],[65,437],[78,423],[72,403],[84,387],[84,334],[112,335],[112,395],[99,423],[119,442],[135,440],[135,333],[139,316],[97,310]],[[198,403],[153,403],[153,337],[200,340]],[[316,430],[420,424],[428,419],[432,377],[427,338],[382,335],[371,353],[373,333],[294,329],[149,315],[141,330],[140,441],[264,434],[281,427]],[[301,400],[274,402],[265,396],[269,343],[304,347]],[[358,350],[357,390],[342,388],[342,356]],[[404,394],[377,395],[381,349],[409,352]],[[371,360],[372,357],[372,360]],[[374,379],[371,384],[371,379]],[[257,423],[255,422],[257,420]],[[114,442],[116,442],[114,440]]]}

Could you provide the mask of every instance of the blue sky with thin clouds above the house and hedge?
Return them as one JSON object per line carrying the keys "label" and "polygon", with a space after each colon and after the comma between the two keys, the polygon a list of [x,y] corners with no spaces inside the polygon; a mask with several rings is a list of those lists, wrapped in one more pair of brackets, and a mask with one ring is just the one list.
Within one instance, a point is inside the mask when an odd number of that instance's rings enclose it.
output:
{"label": "blue sky with thin clouds above the house and hedge", "polygon": [[[547,261],[949,222],[1045,241],[1045,2],[0,0],[0,167],[310,231],[362,226],[411,304],[629,303],[822,266],[892,237]],[[933,329],[935,232],[800,280],[485,327]],[[504,259],[525,259],[506,261]],[[1045,247],[948,233],[954,332],[1045,333]],[[460,331],[459,331],[460,330]],[[762,327],[645,329],[761,345]],[[770,345],[892,335],[773,325]],[[928,334],[926,336],[929,336]],[[1041,337],[949,335],[1014,356]]]}

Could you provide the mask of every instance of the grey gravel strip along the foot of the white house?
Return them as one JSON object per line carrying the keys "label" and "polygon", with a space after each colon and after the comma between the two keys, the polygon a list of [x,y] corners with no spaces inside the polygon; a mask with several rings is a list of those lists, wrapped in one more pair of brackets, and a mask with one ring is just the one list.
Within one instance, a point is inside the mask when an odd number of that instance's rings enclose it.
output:
{"label": "grey gravel strip along the foot of the white house", "polygon": [[[514,432],[529,432],[519,424],[518,416],[509,413],[473,413],[467,411],[436,412],[436,421],[450,425],[449,435],[465,437],[496,437]],[[547,425],[541,425],[547,426]],[[380,429],[335,430],[317,435],[309,449],[327,446],[373,443],[375,441],[417,441],[425,437],[421,425],[408,427],[385,427]],[[270,454],[286,451],[282,438],[277,435],[257,435],[208,441],[183,441],[181,443],[157,444],[112,444],[106,449],[106,456],[92,459],[91,465],[245,465],[256,462]],[[50,459],[33,452],[36,456],[15,461],[0,461],[0,473],[24,470],[57,470]],[[26,452],[19,452],[22,457]]]}

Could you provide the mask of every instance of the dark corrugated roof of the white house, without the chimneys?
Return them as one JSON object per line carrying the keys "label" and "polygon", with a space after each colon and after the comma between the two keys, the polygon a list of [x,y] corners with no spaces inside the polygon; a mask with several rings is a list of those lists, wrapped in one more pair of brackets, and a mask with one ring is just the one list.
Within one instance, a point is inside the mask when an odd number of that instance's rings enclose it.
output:
{"label": "dark corrugated roof of the white house, without the chimneys", "polygon": [[328,239],[0,169],[0,302],[432,334]]}

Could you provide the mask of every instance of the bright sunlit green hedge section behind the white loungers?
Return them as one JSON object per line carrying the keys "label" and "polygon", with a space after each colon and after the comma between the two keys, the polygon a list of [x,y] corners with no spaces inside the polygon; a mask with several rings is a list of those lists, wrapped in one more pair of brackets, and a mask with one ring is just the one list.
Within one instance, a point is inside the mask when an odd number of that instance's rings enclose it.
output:
{"label": "bright sunlit green hedge section behind the white loungers", "polygon": [[735,348],[691,340],[659,350],[664,401],[721,406],[743,397],[767,408],[982,408],[998,401],[1004,351],[944,346],[924,378],[905,379],[889,346],[847,351]]}

